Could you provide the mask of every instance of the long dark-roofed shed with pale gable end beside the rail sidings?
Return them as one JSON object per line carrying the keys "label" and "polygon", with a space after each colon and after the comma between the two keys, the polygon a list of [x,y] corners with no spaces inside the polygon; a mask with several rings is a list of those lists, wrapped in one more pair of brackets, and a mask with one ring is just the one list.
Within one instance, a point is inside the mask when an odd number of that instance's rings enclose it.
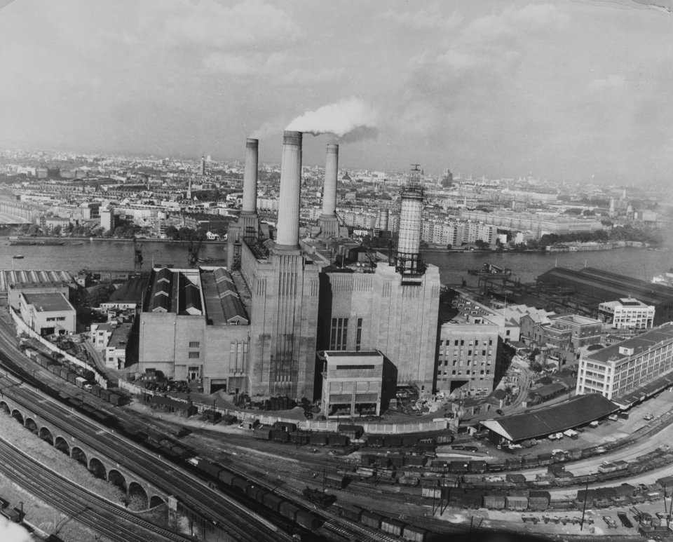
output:
{"label": "long dark-roofed shed with pale gable end beside the rail sidings", "polygon": [[482,425],[517,442],[560,433],[573,427],[588,424],[616,412],[619,407],[599,393],[578,395],[560,405],[545,409],[505,416],[497,420],[484,420]]}

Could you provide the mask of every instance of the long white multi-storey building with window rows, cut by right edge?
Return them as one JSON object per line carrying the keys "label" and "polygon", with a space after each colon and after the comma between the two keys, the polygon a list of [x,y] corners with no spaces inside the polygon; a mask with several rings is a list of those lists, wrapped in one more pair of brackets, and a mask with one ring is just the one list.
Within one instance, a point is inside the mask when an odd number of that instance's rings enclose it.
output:
{"label": "long white multi-storey building with window rows, cut by right edge", "polygon": [[580,357],[576,392],[618,398],[673,371],[673,323]]}

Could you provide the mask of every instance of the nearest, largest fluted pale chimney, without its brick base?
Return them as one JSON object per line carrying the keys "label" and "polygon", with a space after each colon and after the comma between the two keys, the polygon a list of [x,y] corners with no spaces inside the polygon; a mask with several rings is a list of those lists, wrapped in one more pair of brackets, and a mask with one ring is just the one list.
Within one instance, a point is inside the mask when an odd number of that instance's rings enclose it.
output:
{"label": "nearest, largest fluted pale chimney, without its brick base", "polygon": [[301,191],[301,132],[285,130],[280,163],[278,248],[299,248],[299,196]]}

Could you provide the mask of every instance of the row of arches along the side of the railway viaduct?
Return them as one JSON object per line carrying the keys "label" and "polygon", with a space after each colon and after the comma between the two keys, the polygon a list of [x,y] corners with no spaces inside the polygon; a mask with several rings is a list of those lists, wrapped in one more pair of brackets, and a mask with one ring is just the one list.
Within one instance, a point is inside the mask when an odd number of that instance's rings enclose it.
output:
{"label": "row of arches along the side of the railway viaduct", "polygon": [[0,411],[0,414],[4,413],[12,416],[22,426],[25,426],[60,452],[75,461],[79,461],[95,477],[107,480],[107,482],[119,487],[125,494],[125,503],[128,503],[128,499],[132,496],[144,499],[148,508],[154,508],[170,501],[163,490],[132,473],[128,468],[110,459],[100,450],[79,442],[62,428],[57,428],[53,424],[40,419],[40,416],[30,412],[25,406],[18,405],[10,398],[5,396],[0,400]]}

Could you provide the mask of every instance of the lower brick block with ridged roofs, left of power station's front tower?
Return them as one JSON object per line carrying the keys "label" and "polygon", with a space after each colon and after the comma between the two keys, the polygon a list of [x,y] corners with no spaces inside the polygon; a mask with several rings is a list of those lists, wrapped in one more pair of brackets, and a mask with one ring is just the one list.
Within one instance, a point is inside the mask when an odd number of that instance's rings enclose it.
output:
{"label": "lower brick block with ridged roofs, left of power station's front tower", "polygon": [[153,269],[140,313],[140,371],[202,380],[210,393],[249,389],[250,321],[238,285],[222,268]]}

